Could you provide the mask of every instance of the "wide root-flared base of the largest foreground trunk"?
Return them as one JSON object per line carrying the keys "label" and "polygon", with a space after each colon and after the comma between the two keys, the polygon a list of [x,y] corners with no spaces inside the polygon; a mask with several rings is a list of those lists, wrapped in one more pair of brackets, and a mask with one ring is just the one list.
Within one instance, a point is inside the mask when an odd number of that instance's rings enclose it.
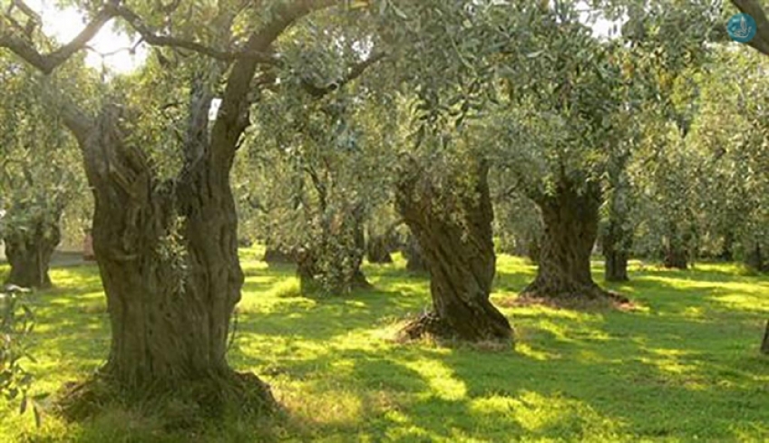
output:
{"label": "wide root-flared base of the largest foreground trunk", "polygon": [[83,421],[110,407],[137,409],[160,417],[165,429],[204,426],[225,413],[271,415],[279,410],[267,383],[250,372],[229,371],[227,375],[201,380],[161,383],[143,388],[126,388],[109,376],[97,373],[83,382],[64,385],[56,400],[63,419]]}

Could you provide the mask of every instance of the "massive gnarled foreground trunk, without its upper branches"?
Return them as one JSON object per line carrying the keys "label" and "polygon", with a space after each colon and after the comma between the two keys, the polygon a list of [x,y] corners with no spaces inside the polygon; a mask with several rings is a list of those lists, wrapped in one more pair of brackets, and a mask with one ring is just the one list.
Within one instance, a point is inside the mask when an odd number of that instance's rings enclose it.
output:
{"label": "massive gnarled foreground trunk, without its upper branches", "polygon": [[233,396],[271,407],[267,386],[226,359],[244,279],[229,160],[209,149],[179,178],[159,182],[146,154],[126,145],[120,115],[105,110],[83,140],[93,249],[112,326],[100,376],[156,399],[186,393],[202,408],[220,410]]}

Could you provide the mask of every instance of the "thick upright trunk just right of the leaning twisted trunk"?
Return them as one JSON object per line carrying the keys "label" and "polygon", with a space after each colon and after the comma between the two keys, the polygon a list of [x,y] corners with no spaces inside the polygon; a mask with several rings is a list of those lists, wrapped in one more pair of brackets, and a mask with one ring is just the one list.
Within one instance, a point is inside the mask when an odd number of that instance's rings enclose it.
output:
{"label": "thick upright trunk just right of the leaning twisted trunk", "polygon": [[535,196],[544,235],[537,277],[524,296],[564,301],[594,300],[609,294],[593,282],[590,255],[598,236],[601,190],[561,181],[552,195]]}

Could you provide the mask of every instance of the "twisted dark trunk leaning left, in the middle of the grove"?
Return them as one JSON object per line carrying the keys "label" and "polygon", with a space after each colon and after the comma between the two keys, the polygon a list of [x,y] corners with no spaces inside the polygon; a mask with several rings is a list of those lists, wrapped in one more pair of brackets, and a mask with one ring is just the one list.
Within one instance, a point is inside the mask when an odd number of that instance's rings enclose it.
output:
{"label": "twisted dark trunk leaning left, in the middle of the grove", "polygon": [[[426,258],[433,297],[433,312],[404,328],[409,338],[428,333],[480,342],[512,336],[507,318],[489,300],[496,257],[487,178],[488,167],[481,165],[473,177],[474,192],[441,195],[420,182],[423,174],[412,163],[398,185],[398,210]],[[457,223],[456,214],[464,224]]]}

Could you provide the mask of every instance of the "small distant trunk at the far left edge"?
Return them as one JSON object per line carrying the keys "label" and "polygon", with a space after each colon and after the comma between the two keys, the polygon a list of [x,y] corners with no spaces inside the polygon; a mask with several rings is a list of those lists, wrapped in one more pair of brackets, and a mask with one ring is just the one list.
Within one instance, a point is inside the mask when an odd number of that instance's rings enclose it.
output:
{"label": "small distant trunk at the far left edge", "polygon": [[11,272],[5,284],[15,284],[25,288],[51,287],[48,268],[51,256],[62,240],[59,218],[54,223],[40,221],[29,232],[15,233],[4,238],[5,256],[11,265]]}

